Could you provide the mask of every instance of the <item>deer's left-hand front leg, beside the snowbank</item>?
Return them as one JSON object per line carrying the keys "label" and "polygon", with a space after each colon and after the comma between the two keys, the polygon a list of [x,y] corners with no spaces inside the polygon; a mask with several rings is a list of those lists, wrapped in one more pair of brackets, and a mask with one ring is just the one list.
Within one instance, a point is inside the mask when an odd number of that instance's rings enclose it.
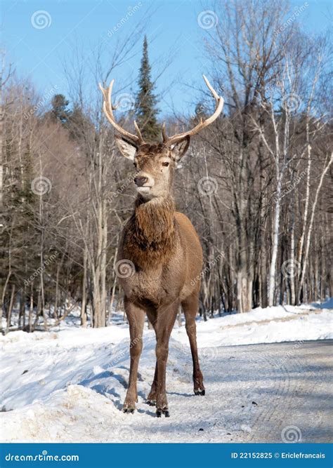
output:
{"label": "deer's left-hand front leg, beside the snowbank", "polygon": [[142,351],[143,324],[145,322],[145,311],[129,302],[125,298],[125,312],[129,320],[129,334],[131,342],[129,353],[131,355],[131,365],[129,368],[129,388],[127,389],[124,401],[124,413],[134,413],[136,401],[138,401],[138,392],[136,389],[136,380],[138,378],[138,363]]}

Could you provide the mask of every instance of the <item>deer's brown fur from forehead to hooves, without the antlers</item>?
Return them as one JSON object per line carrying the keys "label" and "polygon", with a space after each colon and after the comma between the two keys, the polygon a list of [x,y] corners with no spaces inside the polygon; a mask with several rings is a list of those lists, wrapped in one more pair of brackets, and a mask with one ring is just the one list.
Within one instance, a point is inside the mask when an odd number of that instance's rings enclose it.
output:
{"label": "deer's brown fur from forehead to hooves, without the antlers", "polygon": [[[188,140],[186,144],[187,149]],[[169,415],[165,370],[169,337],[179,307],[183,308],[190,340],[195,394],[204,394],[195,333],[200,281],[193,281],[202,270],[202,248],[190,220],[175,211],[170,193],[176,166],[174,155],[179,151],[178,147],[171,154],[165,145],[142,145],[136,153],[138,174],[148,178],[152,189],[138,194],[119,246],[118,261],[130,260],[135,268],[128,276],[119,278],[131,335],[131,369],[124,411],[132,412],[137,401],[136,379],[145,314],[157,338],[155,377],[148,396],[149,403],[156,403],[157,415]],[[169,161],[165,168],[163,162]]]}

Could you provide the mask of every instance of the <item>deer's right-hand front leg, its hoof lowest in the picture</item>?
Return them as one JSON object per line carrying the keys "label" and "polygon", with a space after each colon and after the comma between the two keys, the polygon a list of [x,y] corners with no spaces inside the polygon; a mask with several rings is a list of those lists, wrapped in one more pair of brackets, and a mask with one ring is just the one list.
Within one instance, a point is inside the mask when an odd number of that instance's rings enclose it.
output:
{"label": "deer's right-hand front leg, its hoof lowest in the picture", "polygon": [[157,392],[156,392],[156,415],[161,417],[162,413],[169,417],[168,401],[166,399],[166,361],[169,354],[169,339],[171,330],[176,321],[179,302],[176,301],[157,312],[156,331],[156,361],[157,361]]}

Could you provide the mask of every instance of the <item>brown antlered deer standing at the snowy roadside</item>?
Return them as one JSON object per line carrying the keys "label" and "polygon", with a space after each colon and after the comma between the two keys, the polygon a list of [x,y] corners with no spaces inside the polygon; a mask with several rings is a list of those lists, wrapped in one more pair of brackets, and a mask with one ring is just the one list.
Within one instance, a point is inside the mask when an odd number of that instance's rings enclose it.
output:
{"label": "brown antlered deer standing at the snowy roadside", "polygon": [[[214,96],[214,113],[190,131],[168,137],[162,125],[162,142],[145,142],[136,121],[136,135],[117,123],[112,105],[112,80],[103,93],[103,112],[119,133],[115,143],[119,152],[135,166],[133,182],[137,197],[131,218],[124,225],[119,241],[117,267],[119,283],[124,290],[124,309],[129,322],[129,385],[124,400],[124,413],[134,413],[138,401],[138,363],[143,348],[143,328],[148,316],[156,337],[155,375],[147,397],[156,406],[156,415],[169,417],[166,399],[166,361],[169,339],[178,309],[185,315],[185,330],[190,342],[195,395],[204,396],[205,387],[197,352],[195,317],[199,309],[202,247],[192,223],[175,209],[172,196],[174,172],[190,145],[190,138],[213,123],[223,109],[223,98],[204,81]],[[123,270],[122,270],[123,269]],[[126,269],[126,272],[124,271]]]}

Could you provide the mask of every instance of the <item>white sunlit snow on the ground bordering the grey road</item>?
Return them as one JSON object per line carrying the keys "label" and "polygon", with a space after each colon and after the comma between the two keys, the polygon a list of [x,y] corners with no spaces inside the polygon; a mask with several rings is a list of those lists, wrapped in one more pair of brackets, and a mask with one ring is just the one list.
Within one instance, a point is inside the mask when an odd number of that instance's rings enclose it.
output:
{"label": "white sunlit snow on the ground bordering the grey road", "polygon": [[[230,400],[234,422],[226,429],[216,410],[228,389],[231,392],[234,377],[228,381],[223,367],[216,374],[218,366],[223,366],[223,359],[233,359],[237,345],[288,341],[301,345],[306,340],[332,339],[332,306],[331,300],[324,305],[223,314],[206,322],[198,319],[197,342],[205,385],[210,389],[204,397],[192,394],[188,337],[184,326],[175,327],[166,377],[171,417],[161,419],[154,417],[155,408],[145,404],[155,369],[152,330],[144,333],[135,415],[122,413],[129,377],[126,323],[84,329],[67,321],[48,332],[8,333],[0,337],[1,441],[207,442],[230,441],[230,432],[236,441],[237,434],[251,432],[245,416],[256,411],[260,395],[249,394],[249,382],[240,383],[249,401],[241,415]],[[280,365],[283,359],[287,357]]]}

